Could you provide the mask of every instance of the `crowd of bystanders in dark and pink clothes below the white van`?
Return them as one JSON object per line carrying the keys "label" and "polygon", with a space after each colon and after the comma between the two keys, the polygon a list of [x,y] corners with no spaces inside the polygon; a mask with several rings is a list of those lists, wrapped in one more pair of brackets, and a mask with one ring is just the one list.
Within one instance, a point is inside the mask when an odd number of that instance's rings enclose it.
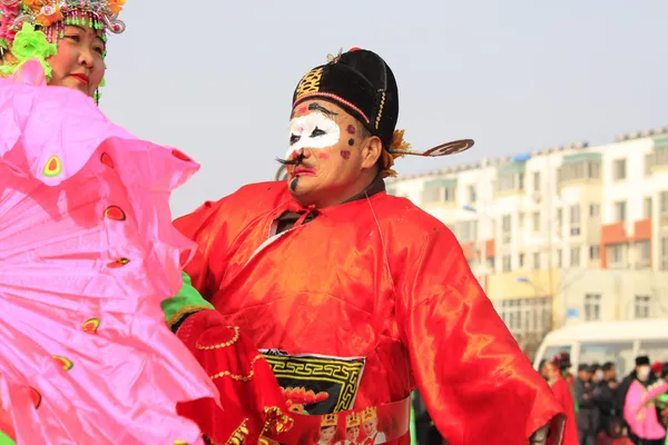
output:
{"label": "crowd of bystanders in dark and pink clothes below the white van", "polygon": [[[540,373],[553,390],[556,380],[564,382],[568,388],[560,399],[571,405],[567,408],[572,413],[571,431],[577,431],[573,444],[668,444],[668,363],[651,364],[647,356],[636,357],[635,362],[631,373],[621,379],[612,362],[581,363],[577,375],[569,372],[567,354],[541,363]],[[564,441],[564,445],[570,444]]]}

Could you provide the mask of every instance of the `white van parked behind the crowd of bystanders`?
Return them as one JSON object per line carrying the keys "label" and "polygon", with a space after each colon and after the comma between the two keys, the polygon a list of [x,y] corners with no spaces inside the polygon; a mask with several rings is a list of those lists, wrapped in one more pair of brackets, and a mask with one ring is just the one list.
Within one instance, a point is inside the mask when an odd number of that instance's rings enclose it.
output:
{"label": "white van parked behind the crowd of bystanders", "polygon": [[538,369],[544,358],[569,353],[572,370],[578,365],[612,362],[617,376],[630,373],[637,356],[647,355],[651,363],[668,362],[668,319],[633,322],[587,322],[552,330],[536,354]]}

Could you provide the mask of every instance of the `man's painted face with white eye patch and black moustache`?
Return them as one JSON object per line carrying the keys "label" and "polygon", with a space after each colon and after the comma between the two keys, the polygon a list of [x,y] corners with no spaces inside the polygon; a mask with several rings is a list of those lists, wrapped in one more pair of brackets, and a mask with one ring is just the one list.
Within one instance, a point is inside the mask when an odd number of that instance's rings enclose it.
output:
{"label": "man's painted face with white eye patch and black moustache", "polygon": [[[382,150],[377,138],[367,136],[357,120],[343,108],[324,101],[299,103],[289,122],[287,182],[303,205],[327,207],[351,198],[375,168]],[[355,190],[355,191],[354,191]]]}

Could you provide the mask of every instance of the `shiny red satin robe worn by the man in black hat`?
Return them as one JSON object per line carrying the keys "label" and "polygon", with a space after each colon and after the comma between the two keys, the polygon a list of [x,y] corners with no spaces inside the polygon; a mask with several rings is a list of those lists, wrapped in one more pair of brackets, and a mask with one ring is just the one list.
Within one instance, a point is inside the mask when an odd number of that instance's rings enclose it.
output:
{"label": "shiny red satin robe worn by the man in black hat", "polygon": [[[272,237],[286,211],[305,214]],[[452,233],[407,199],[381,191],[305,209],[286,182],[264,182],[175,225],[199,245],[186,269],[195,288],[259,348],[279,350],[265,356],[295,411],[383,405],[416,385],[451,445],[525,444],[561,412]],[[318,360],[330,375],[314,380]]]}

